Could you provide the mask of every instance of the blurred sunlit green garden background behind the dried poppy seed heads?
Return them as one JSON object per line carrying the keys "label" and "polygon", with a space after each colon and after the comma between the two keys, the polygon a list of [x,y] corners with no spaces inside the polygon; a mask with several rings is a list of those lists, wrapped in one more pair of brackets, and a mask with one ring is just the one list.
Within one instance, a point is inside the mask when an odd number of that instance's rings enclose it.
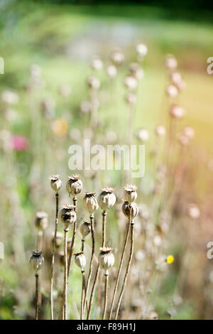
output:
{"label": "blurred sunlit green garden background behind the dried poppy seed heads", "polygon": [[[39,210],[48,212],[49,216],[44,238],[47,265],[43,269],[40,317],[50,317],[48,271],[55,202],[48,176],[54,173],[62,176],[60,204],[66,203],[70,199],[65,183],[67,176],[74,172],[68,168],[69,146],[82,144],[84,138],[91,138],[94,144],[125,144],[124,77],[129,73],[129,64],[137,60],[138,41],[147,45],[148,53],[141,65],[144,76],[138,83],[134,107],[133,143],[138,143],[137,133],[141,128],[148,129],[149,140],[146,142],[146,173],[142,180],[136,181],[142,214],[138,218],[140,237],[131,273],[133,293],[130,296],[126,292],[121,318],[212,318],[213,264],[207,259],[207,242],[213,240],[213,75],[207,74],[207,58],[212,56],[213,45],[212,12],[211,8],[204,11],[197,7],[192,11],[181,5],[176,9],[159,4],[123,2],[116,5],[78,1],[0,2],[0,56],[4,58],[4,75],[0,75],[0,242],[4,242],[5,247],[4,259],[0,260],[1,319],[31,319],[34,316],[34,276],[28,259],[31,250],[35,249],[34,220]],[[118,67],[116,78],[111,79],[106,74],[106,66],[111,63],[111,52],[116,48],[124,53],[125,60]],[[170,82],[165,68],[168,54],[177,58],[178,71],[185,82],[185,89],[174,100],[165,93]],[[91,67],[96,55],[104,63],[99,71]],[[89,120],[87,104],[82,104],[89,99],[89,75],[98,77],[101,82],[95,129]],[[165,233],[158,228],[158,210],[151,212],[153,202],[155,209],[158,206],[158,198],[152,201],[156,162],[151,153],[154,149],[160,154],[163,151],[162,143],[155,139],[155,126],[162,124],[169,131],[169,108],[173,102],[185,109],[185,117],[178,121],[175,134],[172,134],[173,140],[183,126],[192,126],[195,136],[184,158],[179,157],[178,144],[172,149],[173,162],[178,158],[183,161],[177,165],[177,173],[181,170],[182,178],[170,210],[170,232]],[[161,158],[164,158],[163,153]],[[173,168],[173,164],[171,166]],[[124,173],[80,173],[85,191],[99,194],[106,185],[116,189],[118,208],[109,214],[107,232],[108,242],[116,251],[119,249],[116,240],[123,231],[120,226],[123,218],[118,212],[124,193]],[[187,208],[192,203],[200,210],[200,216],[194,220],[187,215]],[[147,220],[143,217],[145,205],[150,217]],[[164,213],[168,213],[166,204],[164,208]],[[84,209],[78,210],[79,222],[87,219]],[[97,232],[101,232],[99,220],[100,212]],[[121,220],[119,227],[118,220]],[[143,266],[138,264],[146,258],[144,224],[153,227],[153,238],[160,236],[162,255],[175,257],[157,283],[153,280],[146,286],[146,291],[140,284],[149,267],[143,271]],[[157,241],[154,243],[155,247],[159,246]],[[76,248],[78,245],[80,237]],[[90,252],[89,247],[88,242],[87,252]],[[58,266],[59,290],[60,284],[62,272]],[[73,266],[68,296],[70,318],[79,317],[80,284],[80,271]],[[145,298],[148,294],[151,297]],[[141,301],[145,299],[143,304]],[[97,309],[94,314],[99,317]]]}

